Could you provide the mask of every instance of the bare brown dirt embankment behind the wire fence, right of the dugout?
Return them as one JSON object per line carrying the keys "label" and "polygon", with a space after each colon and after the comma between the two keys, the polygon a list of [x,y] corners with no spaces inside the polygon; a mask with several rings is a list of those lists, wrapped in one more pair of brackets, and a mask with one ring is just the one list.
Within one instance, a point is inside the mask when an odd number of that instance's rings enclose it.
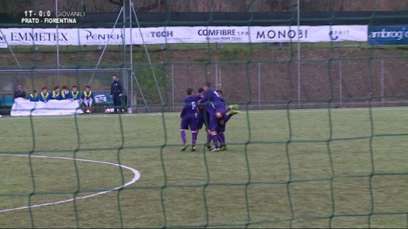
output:
{"label": "bare brown dirt embankment behind the wire fence, right of the dugout", "polygon": [[[175,100],[180,101],[185,88],[197,88],[206,77],[213,84],[218,82],[216,87],[224,91],[228,100],[239,102],[296,100],[298,76],[301,100],[311,102],[336,101],[340,97],[353,98],[348,101],[356,102],[359,100],[355,98],[380,97],[382,93],[385,96],[408,94],[407,51],[303,48],[300,53],[300,66],[296,50],[288,49],[255,50],[251,59],[242,58],[235,63],[174,65]],[[197,54],[187,52],[180,58],[181,61],[193,60]],[[167,75],[171,75],[170,71]],[[382,82],[381,75],[384,76]],[[388,101],[400,99],[403,98],[387,98]]]}

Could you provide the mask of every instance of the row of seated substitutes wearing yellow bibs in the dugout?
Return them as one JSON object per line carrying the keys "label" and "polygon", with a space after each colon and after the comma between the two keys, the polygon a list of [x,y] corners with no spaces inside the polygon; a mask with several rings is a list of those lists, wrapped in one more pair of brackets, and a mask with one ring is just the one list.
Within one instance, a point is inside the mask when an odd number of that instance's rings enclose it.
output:
{"label": "row of seated substitutes wearing yellow bibs in the dugout", "polygon": [[80,93],[78,91],[77,86],[72,87],[72,91],[68,91],[68,88],[66,86],[62,87],[62,91],[60,91],[60,87],[56,86],[53,91],[48,92],[47,88],[42,88],[42,92],[40,94],[37,93],[36,90],[33,91],[29,95],[29,99],[32,102],[48,102],[51,99],[55,100],[66,100],[69,99],[71,101],[74,100],[82,100],[85,105],[86,109],[91,111],[92,110],[92,100],[94,98],[94,94],[91,91],[91,88],[89,86],[85,87],[85,91]]}

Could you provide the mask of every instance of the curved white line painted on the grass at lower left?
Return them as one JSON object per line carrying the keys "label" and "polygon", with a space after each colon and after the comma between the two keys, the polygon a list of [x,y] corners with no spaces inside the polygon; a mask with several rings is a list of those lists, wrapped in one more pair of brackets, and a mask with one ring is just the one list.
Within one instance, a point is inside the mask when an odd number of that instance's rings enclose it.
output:
{"label": "curved white line painted on the grass at lower left", "polygon": [[85,195],[85,196],[81,196],[81,197],[76,197],[76,198],[70,198],[70,199],[64,199],[63,201],[57,201],[57,202],[50,202],[50,203],[44,203],[44,204],[37,204],[37,205],[32,205],[32,206],[25,206],[25,207],[19,207],[19,208],[10,208],[10,209],[0,209],[0,213],[2,212],[10,212],[10,211],[16,211],[16,210],[23,210],[23,209],[29,209],[29,208],[38,208],[38,207],[43,207],[43,206],[50,206],[50,205],[57,205],[57,204],[63,204],[63,203],[68,203],[68,202],[73,202],[73,201],[78,201],[80,199],[85,199],[85,198],[90,198],[93,196],[97,196],[97,195],[102,195],[102,194],[106,194],[124,187],[127,187],[129,185],[132,185],[134,183],[136,183],[136,181],[139,180],[140,178],[140,173],[138,170],[136,170],[135,168],[129,167],[129,166],[125,166],[125,165],[121,165],[121,164],[115,164],[115,163],[111,163],[111,162],[106,162],[106,161],[94,161],[94,160],[86,160],[86,159],[79,159],[79,158],[69,158],[69,157],[52,157],[52,156],[36,156],[36,155],[20,155],[20,154],[0,154],[0,156],[15,156],[15,157],[36,157],[36,158],[47,158],[47,159],[61,159],[61,160],[76,160],[76,161],[84,161],[84,162],[92,162],[92,163],[99,163],[99,164],[108,164],[108,165],[114,165],[114,166],[118,166],[118,167],[122,167],[128,170],[131,170],[132,173],[134,174],[134,177],[131,181],[127,182],[124,185],[121,185],[119,187],[115,187],[106,191],[101,191],[101,192],[97,192],[97,193],[93,193],[90,195]]}

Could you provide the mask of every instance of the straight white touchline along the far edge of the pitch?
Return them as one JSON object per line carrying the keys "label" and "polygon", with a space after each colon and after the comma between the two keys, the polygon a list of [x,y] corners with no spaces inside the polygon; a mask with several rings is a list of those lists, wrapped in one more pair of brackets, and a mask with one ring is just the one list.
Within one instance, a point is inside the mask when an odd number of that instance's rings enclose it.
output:
{"label": "straight white touchline along the far edge of the pitch", "polygon": [[[327,112],[327,108],[311,108],[311,109],[290,109],[291,113],[316,113],[316,112]],[[382,111],[382,110],[408,110],[408,107],[406,108],[382,108],[382,107],[372,107],[371,110],[373,111]],[[331,108],[331,112],[354,112],[354,111],[366,111],[368,112],[368,108]],[[286,113],[286,109],[276,109],[276,110],[249,110],[248,113]],[[246,113],[246,111],[242,111],[243,114]],[[152,113],[133,113],[133,114],[123,114],[121,115],[122,118],[127,118],[127,117],[143,117],[143,116],[180,116],[180,112],[164,112],[164,113],[158,113],[158,112],[152,112]],[[33,119],[73,119],[75,116],[34,116]],[[78,115],[78,118],[117,118],[118,115],[106,115],[103,113],[100,113],[98,115]],[[7,117],[0,119],[1,121],[6,121],[6,120],[19,120],[19,119],[24,119],[28,120],[30,117]]]}

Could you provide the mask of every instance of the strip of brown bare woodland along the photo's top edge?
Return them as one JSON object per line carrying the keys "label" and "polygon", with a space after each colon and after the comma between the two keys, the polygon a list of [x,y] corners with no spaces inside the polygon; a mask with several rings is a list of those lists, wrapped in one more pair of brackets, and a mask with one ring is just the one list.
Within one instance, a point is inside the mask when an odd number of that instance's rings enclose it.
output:
{"label": "strip of brown bare woodland along the photo's top edge", "polygon": [[[82,10],[78,0],[58,0],[59,9]],[[116,12],[123,0],[82,0],[88,12]],[[173,12],[288,12],[297,0],[137,0],[138,11]],[[0,0],[0,12],[22,13],[25,9],[55,9],[55,0]],[[300,0],[301,11],[406,11],[408,0]]]}

